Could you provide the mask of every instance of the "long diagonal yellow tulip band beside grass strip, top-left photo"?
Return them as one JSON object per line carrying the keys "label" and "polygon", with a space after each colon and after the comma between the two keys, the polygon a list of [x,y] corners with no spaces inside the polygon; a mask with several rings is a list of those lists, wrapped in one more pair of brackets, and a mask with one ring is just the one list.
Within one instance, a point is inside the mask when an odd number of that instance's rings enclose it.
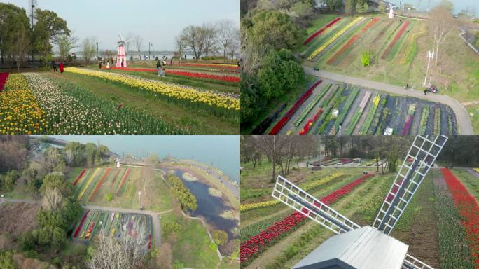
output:
{"label": "long diagonal yellow tulip band beside grass strip, top-left photo", "polygon": [[65,71],[74,74],[102,78],[107,81],[115,81],[134,88],[151,90],[153,92],[158,92],[160,95],[173,97],[175,99],[187,100],[191,103],[206,104],[207,106],[214,106],[220,109],[226,109],[228,111],[240,111],[240,99],[227,95],[221,95],[216,92],[200,91],[180,85],[162,83],[161,81],[151,81],[134,76],[127,76],[125,74],[106,73],[102,71],[79,69],[76,67],[66,68]]}

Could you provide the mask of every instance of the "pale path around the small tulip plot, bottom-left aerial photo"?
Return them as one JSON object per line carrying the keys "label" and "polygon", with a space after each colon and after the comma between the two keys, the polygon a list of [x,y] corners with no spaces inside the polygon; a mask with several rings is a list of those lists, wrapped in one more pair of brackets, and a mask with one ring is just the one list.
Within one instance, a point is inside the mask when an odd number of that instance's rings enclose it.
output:
{"label": "pale path around the small tulip plot, bottom-left aerial photo", "polygon": [[[20,200],[20,199],[8,199],[8,198],[0,198],[0,204],[2,202],[27,202],[31,204],[40,203],[40,201],[36,200]],[[125,209],[125,208],[116,208],[116,207],[101,207],[97,205],[82,205],[85,209],[92,209],[92,210],[103,210],[103,211],[112,211],[112,212],[121,212],[121,213],[132,213],[132,214],[146,214],[150,215],[153,218],[153,237],[155,238],[155,247],[161,247],[161,225],[160,225],[160,218],[158,217],[159,214],[167,213],[167,212],[151,212],[151,211],[144,211],[144,210],[137,210],[137,209]]]}

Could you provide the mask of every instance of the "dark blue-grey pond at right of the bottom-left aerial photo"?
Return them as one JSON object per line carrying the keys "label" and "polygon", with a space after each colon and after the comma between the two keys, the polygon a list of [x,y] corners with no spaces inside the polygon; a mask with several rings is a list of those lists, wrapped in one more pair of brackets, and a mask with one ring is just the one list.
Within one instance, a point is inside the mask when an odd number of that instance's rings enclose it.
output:
{"label": "dark blue-grey pond at right of the bottom-left aerial photo", "polygon": [[208,193],[208,186],[199,181],[188,181],[183,179],[183,172],[176,170],[176,175],[183,180],[183,183],[190,189],[191,193],[195,195],[198,208],[193,212],[193,216],[203,216],[209,225],[216,229],[224,230],[228,233],[230,239],[235,238],[231,230],[238,227],[238,221],[223,219],[220,214],[225,210],[233,210],[227,207],[223,199],[212,196]]}

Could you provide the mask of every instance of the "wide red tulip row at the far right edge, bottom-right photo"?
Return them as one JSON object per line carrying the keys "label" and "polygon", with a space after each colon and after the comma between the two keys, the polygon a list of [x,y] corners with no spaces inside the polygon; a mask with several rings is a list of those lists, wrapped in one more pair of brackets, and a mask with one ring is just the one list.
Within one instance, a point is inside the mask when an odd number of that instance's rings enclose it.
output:
{"label": "wide red tulip row at the far right edge, bottom-right photo", "polygon": [[479,268],[479,205],[475,198],[467,191],[466,187],[446,168],[441,169],[443,178],[449,186],[456,205],[457,212],[461,215],[462,226],[471,247],[471,258],[475,268]]}

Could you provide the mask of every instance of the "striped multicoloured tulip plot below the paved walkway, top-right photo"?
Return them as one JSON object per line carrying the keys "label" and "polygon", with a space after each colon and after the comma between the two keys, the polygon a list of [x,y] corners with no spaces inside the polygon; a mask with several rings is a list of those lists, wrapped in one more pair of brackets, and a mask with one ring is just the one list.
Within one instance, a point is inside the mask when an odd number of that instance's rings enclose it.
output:
{"label": "striped multicoloured tulip plot below the paved walkway, top-right photo", "polygon": [[319,80],[275,120],[270,135],[457,135],[449,106]]}

